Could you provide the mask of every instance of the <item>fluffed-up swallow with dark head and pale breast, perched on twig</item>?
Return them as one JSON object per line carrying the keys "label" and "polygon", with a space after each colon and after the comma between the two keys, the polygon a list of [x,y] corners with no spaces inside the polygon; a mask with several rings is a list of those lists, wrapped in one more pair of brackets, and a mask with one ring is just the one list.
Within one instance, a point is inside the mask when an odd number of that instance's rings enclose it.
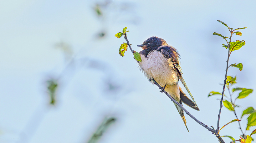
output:
{"label": "fluffed-up swallow with dark head and pale breast, perched on twig", "polygon": [[[160,92],[165,90],[179,104],[182,105],[182,103],[184,103],[200,111],[182,77],[180,54],[177,49],[168,45],[164,39],[155,36],[146,39],[143,44],[137,46],[142,48],[139,52],[141,62],[138,61],[138,63],[146,78],[151,81],[152,84],[156,81],[161,86],[161,88],[159,88],[161,89]],[[182,82],[193,101],[182,91],[181,87],[178,85],[179,80]],[[187,128],[187,122],[182,108],[177,104],[175,104],[175,106]],[[189,132],[188,128],[187,131]]]}

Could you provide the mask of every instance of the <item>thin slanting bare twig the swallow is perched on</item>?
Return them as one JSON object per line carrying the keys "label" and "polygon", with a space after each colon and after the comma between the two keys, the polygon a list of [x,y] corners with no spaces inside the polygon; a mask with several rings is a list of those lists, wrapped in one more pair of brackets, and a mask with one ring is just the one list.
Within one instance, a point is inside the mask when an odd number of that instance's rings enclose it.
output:
{"label": "thin slanting bare twig the swallow is perched on", "polygon": [[[125,37],[125,40],[126,40],[128,46],[129,46],[131,52],[133,53],[133,50],[132,50],[132,48],[131,48],[131,45],[130,45],[128,39],[127,39],[126,33],[124,34],[124,37]],[[154,84],[155,84],[156,86],[158,86],[159,88],[162,88],[154,79],[153,79],[153,81],[154,81]],[[185,111],[185,113],[186,113],[189,117],[191,117],[193,120],[195,120],[195,121],[196,121],[198,124],[200,124],[201,126],[205,127],[208,131],[211,131],[212,134],[214,134],[214,135],[218,138],[218,140],[219,140],[221,143],[225,143],[225,142],[223,141],[223,139],[221,138],[221,136],[218,134],[218,131],[214,130],[213,127],[212,127],[212,129],[211,129],[210,127],[208,127],[208,126],[205,125],[204,123],[202,123],[202,122],[200,122],[199,120],[197,120],[197,118],[195,118],[193,115],[191,115],[181,104],[179,104],[175,99],[173,99],[172,96],[170,96],[165,90],[164,90],[163,92],[172,100],[172,102],[174,102],[174,103],[177,104],[180,108],[182,108],[182,110]]]}

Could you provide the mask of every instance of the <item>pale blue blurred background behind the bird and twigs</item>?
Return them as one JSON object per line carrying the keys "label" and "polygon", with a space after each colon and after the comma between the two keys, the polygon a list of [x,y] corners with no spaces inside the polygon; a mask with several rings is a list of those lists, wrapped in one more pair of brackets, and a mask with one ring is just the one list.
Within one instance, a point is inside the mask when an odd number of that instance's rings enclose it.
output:
{"label": "pale blue blurred background behind the bird and twigs", "polygon": [[[131,52],[119,55],[125,39],[114,35],[128,27],[136,51],[151,36],[176,47],[201,111],[184,106],[216,128],[220,96],[207,96],[222,92],[228,51],[212,33],[230,36],[217,20],[248,28],[239,30],[242,37],[232,37],[246,44],[229,62],[243,63],[243,70],[231,67],[228,75],[237,76],[235,87],[256,89],[255,5],[249,0],[0,1],[0,142],[217,143],[185,115],[187,132],[171,100],[143,76]],[[237,100],[238,117],[256,108],[255,101],[255,92]],[[232,119],[233,112],[223,107],[220,126]],[[235,122],[220,134],[238,139],[241,131]]]}

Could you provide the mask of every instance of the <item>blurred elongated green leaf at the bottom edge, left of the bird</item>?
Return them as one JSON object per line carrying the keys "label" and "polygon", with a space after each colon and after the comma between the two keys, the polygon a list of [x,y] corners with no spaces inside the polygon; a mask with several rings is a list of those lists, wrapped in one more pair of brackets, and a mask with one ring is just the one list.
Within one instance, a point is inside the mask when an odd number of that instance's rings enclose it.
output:
{"label": "blurred elongated green leaf at the bottom edge, left of the bird", "polygon": [[91,136],[90,140],[87,143],[96,143],[99,141],[100,137],[106,132],[106,130],[116,121],[116,118],[105,118],[104,121],[100,124],[95,133]]}

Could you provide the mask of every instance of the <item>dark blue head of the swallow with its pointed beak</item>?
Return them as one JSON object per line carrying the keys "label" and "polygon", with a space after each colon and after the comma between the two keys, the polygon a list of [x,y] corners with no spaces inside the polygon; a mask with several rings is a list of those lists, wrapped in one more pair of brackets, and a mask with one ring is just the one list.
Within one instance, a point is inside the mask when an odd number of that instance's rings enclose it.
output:
{"label": "dark blue head of the swallow with its pointed beak", "polygon": [[163,45],[168,45],[164,39],[158,37],[150,37],[149,39],[146,39],[143,44],[137,46],[145,50],[150,47],[160,47]]}

